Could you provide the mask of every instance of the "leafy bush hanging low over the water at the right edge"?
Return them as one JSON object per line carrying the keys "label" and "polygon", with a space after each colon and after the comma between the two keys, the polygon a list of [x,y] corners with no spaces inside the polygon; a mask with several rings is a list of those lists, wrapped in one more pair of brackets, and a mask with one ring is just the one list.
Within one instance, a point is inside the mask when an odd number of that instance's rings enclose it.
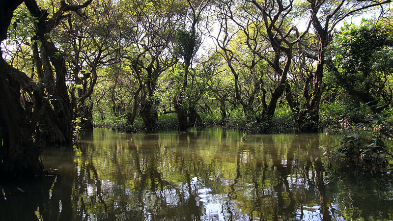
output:
{"label": "leafy bush hanging low over the water at the right edge", "polygon": [[369,114],[363,122],[342,132],[337,146],[324,146],[325,157],[332,165],[339,162],[365,168],[392,169],[393,108]]}

